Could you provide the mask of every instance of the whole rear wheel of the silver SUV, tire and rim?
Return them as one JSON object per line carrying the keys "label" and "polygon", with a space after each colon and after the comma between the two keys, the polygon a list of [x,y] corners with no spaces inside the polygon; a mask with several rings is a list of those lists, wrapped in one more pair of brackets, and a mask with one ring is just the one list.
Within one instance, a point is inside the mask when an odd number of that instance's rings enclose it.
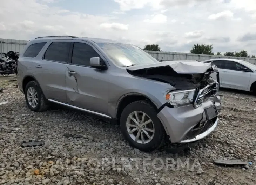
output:
{"label": "whole rear wheel of the silver SUV, tire and rim", "polygon": [[42,112],[48,109],[48,101],[36,81],[30,81],[26,85],[25,99],[28,108],[35,112]]}

